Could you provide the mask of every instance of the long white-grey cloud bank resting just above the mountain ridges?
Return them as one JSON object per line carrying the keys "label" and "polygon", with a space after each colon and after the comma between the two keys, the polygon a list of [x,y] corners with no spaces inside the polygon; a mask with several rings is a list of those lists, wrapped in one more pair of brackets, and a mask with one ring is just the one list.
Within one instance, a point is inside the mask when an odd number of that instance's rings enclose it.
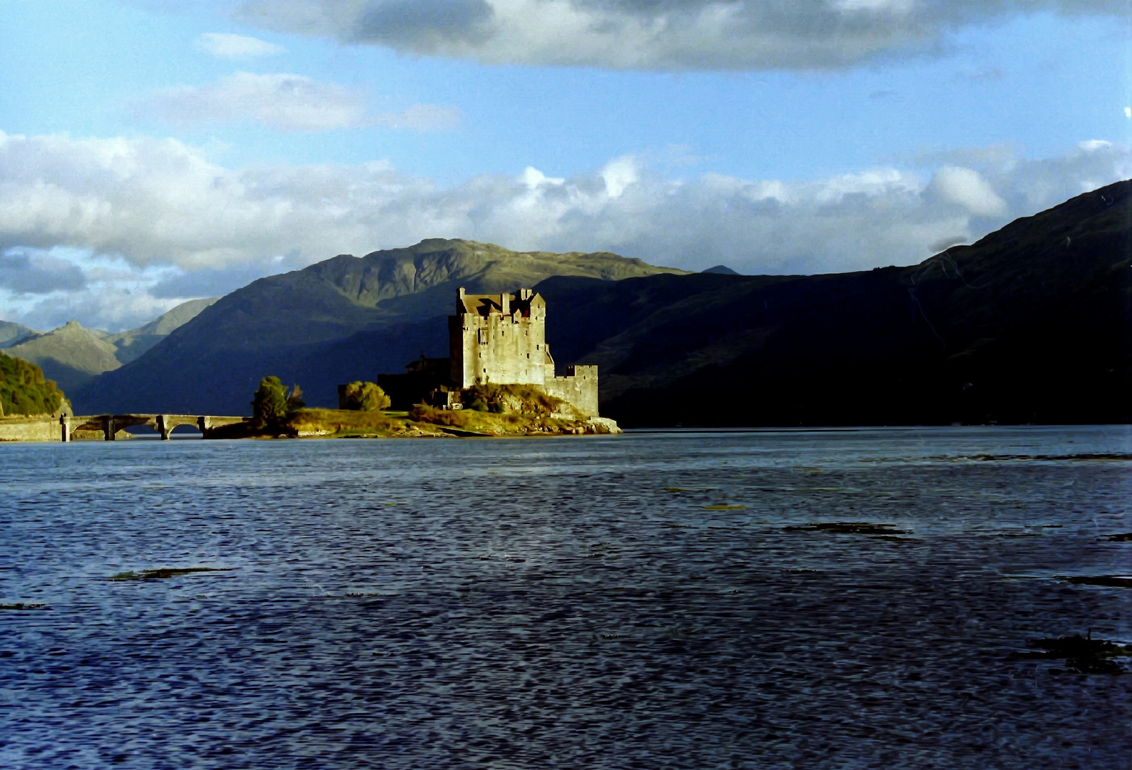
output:
{"label": "long white-grey cloud bank resting just above the mountain ridges", "polygon": [[[129,326],[182,299],[424,237],[741,272],[907,265],[1129,176],[1132,149],[1089,141],[1061,157],[957,150],[809,181],[677,179],[625,156],[569,178],[528,168],[440,187],[387,162],[229,168],[175,139],[0,132],[0,314]],[[95,276],[97,259],[121,269]]]}

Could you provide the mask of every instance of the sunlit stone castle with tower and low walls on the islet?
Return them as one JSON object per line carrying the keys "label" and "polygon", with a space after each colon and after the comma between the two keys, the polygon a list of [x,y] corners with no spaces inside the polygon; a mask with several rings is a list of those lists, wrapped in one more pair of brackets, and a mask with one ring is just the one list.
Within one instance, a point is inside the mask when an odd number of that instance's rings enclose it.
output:
{"label": "sunlit stone castle with tower and low walls on the islet", "polygon": [[404,374],[381,374],[378,384],[395,407],[428,401],[451,405],[453,391],[477,384],[532,384],[598,416],[598,367],[568,366],[555,374],[547,346],[547,302],[534,289],[515,293],[456,292],[448,317],[448,357],[414,361]]}

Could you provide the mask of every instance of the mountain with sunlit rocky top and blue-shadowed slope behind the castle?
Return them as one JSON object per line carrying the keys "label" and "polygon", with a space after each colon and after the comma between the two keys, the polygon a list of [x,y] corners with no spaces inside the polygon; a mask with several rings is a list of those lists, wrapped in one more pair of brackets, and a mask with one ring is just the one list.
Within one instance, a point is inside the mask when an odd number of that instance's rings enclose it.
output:
{"label": "mountain with sunlit rocky top and blue-shadowed slope behind the castle", "polygon": [[298,382],[312,405],[336,384],[400,372],[447,349],[444,317],[460,286],[474,293],[568,275],[614,282],[683,275],[608,252],[515,252],[431,239],[365,257],[340,254],[260,278],[222,297],[152,351],[72,395],[79,412],[243,414],[259,380]]}

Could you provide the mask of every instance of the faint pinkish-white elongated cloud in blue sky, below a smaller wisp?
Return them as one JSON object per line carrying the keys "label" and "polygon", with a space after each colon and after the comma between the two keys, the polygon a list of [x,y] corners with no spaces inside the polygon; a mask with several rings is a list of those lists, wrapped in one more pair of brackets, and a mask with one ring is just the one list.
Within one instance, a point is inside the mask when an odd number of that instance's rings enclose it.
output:
{"label": "faint pinkish-white elongated cloud in blue sky, below a smaller wisp", "polygon": [[207,86],[165,89],[142,110],[178,123],[251,121],[281,131],[327,131],[361,126],[366,100],[301,75],[235,72]]}

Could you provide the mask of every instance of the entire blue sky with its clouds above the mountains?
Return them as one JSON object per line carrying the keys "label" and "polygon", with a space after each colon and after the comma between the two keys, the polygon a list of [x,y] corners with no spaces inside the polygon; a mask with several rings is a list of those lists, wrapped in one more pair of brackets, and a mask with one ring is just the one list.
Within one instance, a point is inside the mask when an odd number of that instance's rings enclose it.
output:
{"label": "entire blue sky with its clouds above the mountains", "polygon": [[814,274],[1132,176],[1129,0],[6,0],[0,320],[427,237]]}

